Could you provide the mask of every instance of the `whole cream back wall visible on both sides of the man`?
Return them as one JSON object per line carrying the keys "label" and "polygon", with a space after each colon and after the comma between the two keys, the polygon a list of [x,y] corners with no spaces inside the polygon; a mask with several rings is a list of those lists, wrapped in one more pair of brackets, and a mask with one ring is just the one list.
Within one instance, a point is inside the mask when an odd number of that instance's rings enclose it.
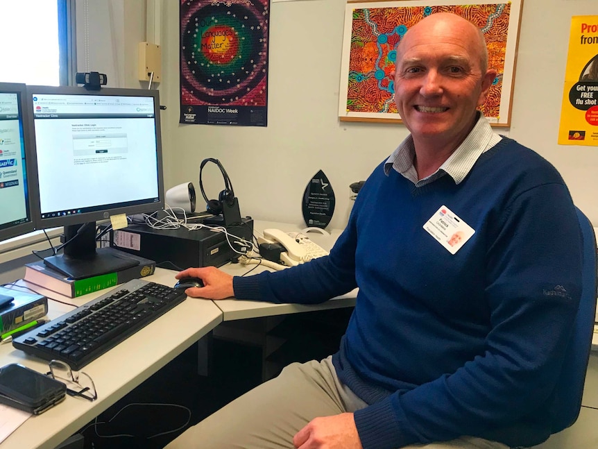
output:
{"label": "whole cream back wall visible on both sides of the man", "polygon": [[[129,1],[121,24],[128,42],[115,47],[124,49],[124,61],[136,60],[136,44],[144,40],[138,23],[145,3]],[[105,2],[114,9],[123,0]],[[366,178],[407,135],[400,124],[339,121],[345,0],[271,3],[266,128],[178,124],[178,5],[163,0],[159,11],[166,188],[187,180],[197,187],[200,162],[218,158],[232,178],[242,214],[302,223],[302,193],[323,169],[336,192],[332,226],[343,226],[349,184]],[[500,132],[555,164],[576,204],[598,226],[598,148],[556,144],[573,15],[598,15],[598,1],[524,0],[511,128]],[[139,85],[121,71],[123,85]],[[208,196],[216,198],[223,188],[219,171],[205,174]]]}

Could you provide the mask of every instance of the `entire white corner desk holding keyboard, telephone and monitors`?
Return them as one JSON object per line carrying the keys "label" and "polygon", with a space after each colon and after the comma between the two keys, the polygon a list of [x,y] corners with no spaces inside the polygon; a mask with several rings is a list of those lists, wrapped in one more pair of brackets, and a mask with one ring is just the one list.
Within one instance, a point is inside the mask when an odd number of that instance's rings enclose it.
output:
{"label": "entire white corner desk holding keyboard, telephone and monitors", "polygon": [[[267,228],[279,228],[285,231],[299,229],[298,226],[270,221],[257,221],[255,228],[258,231]],[[340,230],[334,230],[332,235],[316,235],[310,232],[309,237],[323,248],[330,249],[340,233]],[[246,273],[253,267],[254,265],[227,264],[222,269],[236,276]],[[257,267],[254,272],[259,271],[264,271],[264,267]],[[175,273],[166,269],[156,269],[155,274],[144,279],[172,286],[175,283]],[[24,285],[27,285],[26,282]],[[80,298],[66,298],[37,286],[31,285],[31,287],[42,294],[76,306],[83,305],[106,291],[110,291],[110,289],[106,289]],[[162,366],[191,344],[214,330],[224,319],[237,320],[350,307],[354,305],[355,296],[355,292],[351,292],[322,305],[311,306],[268,304],[234,299],[212,302],[211,300],[187,298],[160,316],[159,319],[148,324],[83,368],[83,371],[88,373],[96,384],[98,399],[95,402],[89,403],[80,398],[67,396],[65,401],[57,407],[49,409],[40,416],[29,418],[3,443],[0,443],[0,449],[55,448],[80,427],[92,421],[126,393],[160,370]],[[54,319],[70,310],[72,310],[70,306],[49,301],[48,317]],[[12,345],[0,345],[0,366],[15,362],[39,372],[48,371],[47,364],[43,360],[28,356],[13,348]]]}

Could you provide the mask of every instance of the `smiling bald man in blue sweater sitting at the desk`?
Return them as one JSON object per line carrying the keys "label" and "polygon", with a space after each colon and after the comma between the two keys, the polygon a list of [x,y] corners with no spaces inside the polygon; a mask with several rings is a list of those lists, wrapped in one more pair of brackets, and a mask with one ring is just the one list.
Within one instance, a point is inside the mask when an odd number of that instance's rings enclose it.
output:
{"label": "smiling bald man in blue sweater sitting at the desk", "polygon": [[212,299],[359,294],[338,353],[287,366],[169,448],[547,439],[545,403],[581,292],[581,232],[556,169],[477,112],[496,76],[487,64],[470,22],[423,19],[397,48],[395,103],[411,135],[370,175],[330,255],[244,278],[213,267],[177,275],[202,278],[187,294]]}

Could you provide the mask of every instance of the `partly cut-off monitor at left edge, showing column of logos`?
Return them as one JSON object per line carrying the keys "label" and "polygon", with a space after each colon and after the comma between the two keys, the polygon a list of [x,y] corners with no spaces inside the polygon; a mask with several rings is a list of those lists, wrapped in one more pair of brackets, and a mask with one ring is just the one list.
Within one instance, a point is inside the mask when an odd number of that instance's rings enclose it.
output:
{"label": "partly cut-off monitor at left edge, showing column of logos", "polygon": [[34,229],[29,126],[25,85],[0,83],[0,241]]}

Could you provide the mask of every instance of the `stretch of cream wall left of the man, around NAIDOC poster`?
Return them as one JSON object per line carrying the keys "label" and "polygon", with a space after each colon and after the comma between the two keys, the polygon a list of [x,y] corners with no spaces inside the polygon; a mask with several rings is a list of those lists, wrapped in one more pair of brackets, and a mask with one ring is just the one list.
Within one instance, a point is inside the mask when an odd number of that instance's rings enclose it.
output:
{"label": "stretch of cream wall left of the man, around NAIDOC poster", "polygon": [[[339,122],[344,10],[343,0],[271,3],[266,128],[180,125],[178,5],[164,2],[166,186],[197,183],[201,160],[218,158],[241,214],[302,223],[302,194],[322,169],[336,194],[331,226],[344,226],[350,183],[365,179],[407,135],[403,126]],[[223,183],[211,172],[204,184],[214,198]]]}

